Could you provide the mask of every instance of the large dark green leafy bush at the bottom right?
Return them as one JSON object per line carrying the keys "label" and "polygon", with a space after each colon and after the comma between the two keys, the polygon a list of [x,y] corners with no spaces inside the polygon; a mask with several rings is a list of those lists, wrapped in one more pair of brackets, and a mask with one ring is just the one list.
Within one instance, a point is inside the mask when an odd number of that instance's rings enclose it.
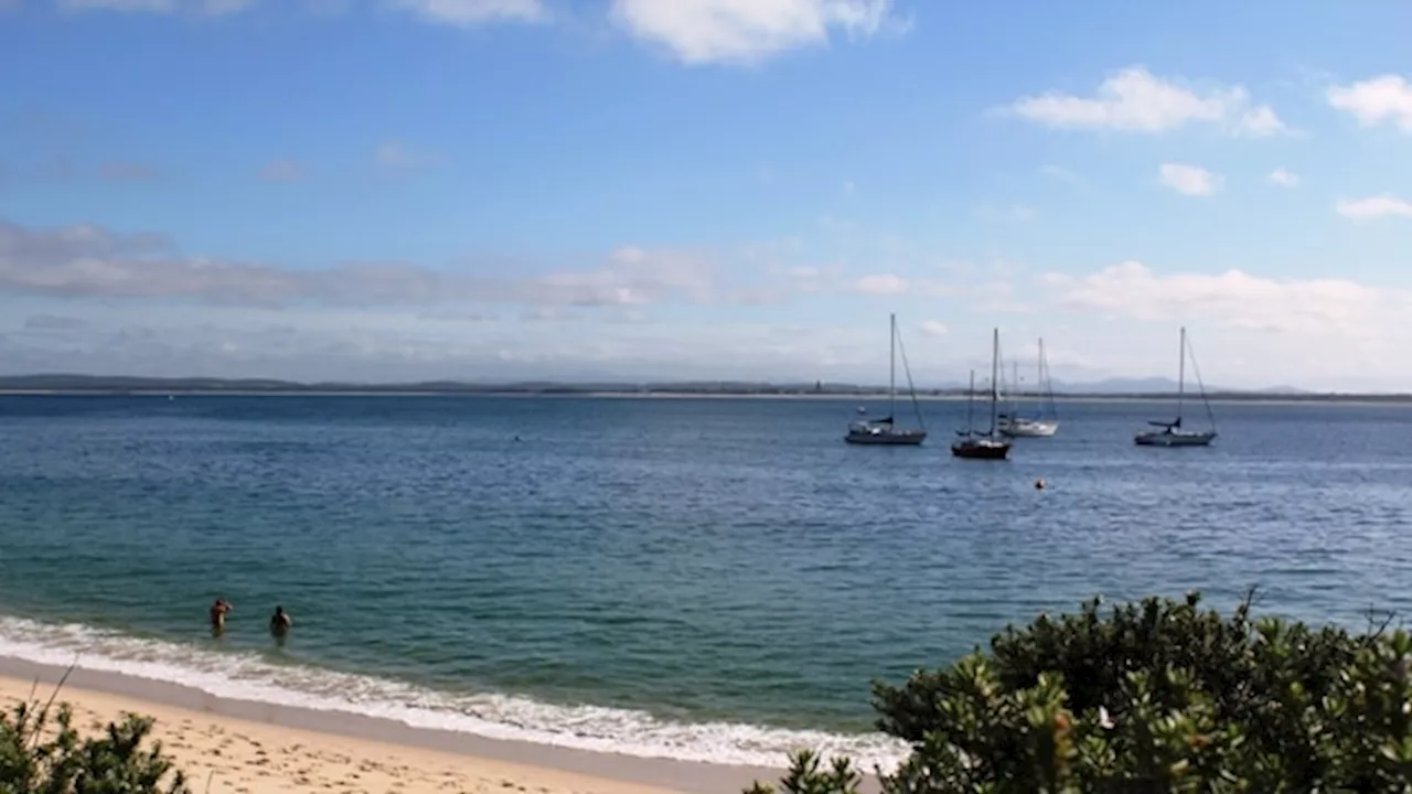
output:
{"label": "large dark green leafy bush at the bottom right", "polygon": [[[1412,637],[1147,599],[1007,627],[988,653],[873,685],[911,756],[884,794],[1412,793]],[[794,759],[788,794],[854,794]],[[772,787],[755,784],[751,794]]]}

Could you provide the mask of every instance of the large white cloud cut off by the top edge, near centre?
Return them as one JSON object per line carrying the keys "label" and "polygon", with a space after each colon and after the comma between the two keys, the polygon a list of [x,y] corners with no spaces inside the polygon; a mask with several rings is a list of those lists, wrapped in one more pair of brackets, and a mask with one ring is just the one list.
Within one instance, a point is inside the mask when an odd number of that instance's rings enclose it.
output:
{"label": "large white cloud cut off by the top edge, near centre", "polygon": [[758,64],[833,31],[870,38],[899,24],[891,0],[613,0],[610,14],[690,65]]}

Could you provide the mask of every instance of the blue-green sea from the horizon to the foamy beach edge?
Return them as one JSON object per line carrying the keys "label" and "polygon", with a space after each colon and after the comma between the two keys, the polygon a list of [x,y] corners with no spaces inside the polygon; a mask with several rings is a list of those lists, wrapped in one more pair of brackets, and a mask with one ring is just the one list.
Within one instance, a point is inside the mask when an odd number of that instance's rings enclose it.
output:
{"label": "blue-green sea from the horizon to the foamy beach edge", "polygon": [[923,404],[911,449],[844,445],[853,407],[4,397],[0,654],[778,764],[890,757],[870,680],[1094,593],[1412,608],[1412,411],[1226,404],[1216,446],[1147,449],[1169,407],[1062,404],[1056,438],[984,463],[947,452],[964,404]]}

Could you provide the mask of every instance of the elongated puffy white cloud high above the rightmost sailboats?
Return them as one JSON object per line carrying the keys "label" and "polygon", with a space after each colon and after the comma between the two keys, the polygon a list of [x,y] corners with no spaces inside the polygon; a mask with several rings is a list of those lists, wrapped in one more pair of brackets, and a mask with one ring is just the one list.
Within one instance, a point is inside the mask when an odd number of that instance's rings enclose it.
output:
{"label": "elongated puffy white cloud high above the rightmost sailboats", "polygon": [[1130,66],[1103,81],[1091,97],[1062,92],[1025,96],[1008,112],[1056,129],[1162,133],[1193,123],[1217,124],[1236,136],[1265,137],[1288,131],[1268,105],[1251,107],[1243,86],[1207,92]]}

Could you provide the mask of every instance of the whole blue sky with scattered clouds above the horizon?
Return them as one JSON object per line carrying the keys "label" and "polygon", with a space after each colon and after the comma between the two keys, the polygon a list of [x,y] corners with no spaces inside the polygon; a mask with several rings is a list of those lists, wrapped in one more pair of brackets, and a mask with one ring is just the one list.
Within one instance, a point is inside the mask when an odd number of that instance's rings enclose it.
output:
{"label": "whole blue sky with scattered clouds above the horizon", "polygon": [[0,373],[1412,390],[1412,3],[0,0]]}

